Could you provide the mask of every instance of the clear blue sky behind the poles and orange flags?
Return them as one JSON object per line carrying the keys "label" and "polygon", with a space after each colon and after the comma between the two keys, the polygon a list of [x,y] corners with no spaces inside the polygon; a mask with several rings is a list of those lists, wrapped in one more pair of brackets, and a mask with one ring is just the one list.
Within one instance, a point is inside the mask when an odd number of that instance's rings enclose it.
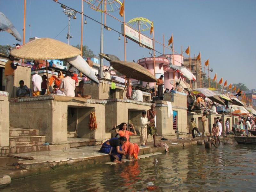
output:
{"label": "clear blue sky behind the poles and orange flags", "polygon": [[[81,11],[81,0],[59,0]],[[155,38],[165,44],[173,33],[174,50],[180,52],[190,45],[191,55],[201,52],[202,60],[210,60],[213,72],[229,83],[244,83],[256,88],[256,1],[255,0],[126,0],[125,20],[145,17],[154,21]],[[23,36],[23,0],[0,0],[3,12]],[[30,37],[57,36],[68,25],[68,18],[59,4],[52,0],[27,0],[26,42]],[[100,21],[100,13],[84,3],[84,13]],[[122,20],[118,12],[113,15]],[[80,44],[81,16],[71,20],[71,45]],[[30,27],[29,27],[30,25]],[[107,17],[107,25],[121,31],[120,23]],[[67,43],[66,28],[57,40]],[[149,31],[145,32],[149,35]],[[129,41],[129,40],[128,40]],[[0,32],[0,44],[18,43],[10,34]],[[95,55],[100,52],[100,25],[87,19],[83,44]],[[149,56],[149,50],[129,41],[127,61]],[[156,46],[159,52],[163,48]],[[123,37],[118,40],[114,31],[104,30],[104,52],[124,59]],[[158,54],[156,54],[158,56]],[[107,63],[106,63],[107,64]]]}

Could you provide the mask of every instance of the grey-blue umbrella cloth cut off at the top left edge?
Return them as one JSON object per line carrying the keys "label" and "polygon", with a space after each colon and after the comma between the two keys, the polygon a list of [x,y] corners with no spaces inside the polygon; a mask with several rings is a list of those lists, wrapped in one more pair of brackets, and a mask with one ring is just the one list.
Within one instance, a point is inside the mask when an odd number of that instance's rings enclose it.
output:
{"label": "grey-blue umbrella cloth cut off at the top left edge", "polygon": [[0,12],[0,31],[1,30],[11,33],[17,41],[21,41],[21,36],[19,32],[12,25],[12,22],[2,12]]}

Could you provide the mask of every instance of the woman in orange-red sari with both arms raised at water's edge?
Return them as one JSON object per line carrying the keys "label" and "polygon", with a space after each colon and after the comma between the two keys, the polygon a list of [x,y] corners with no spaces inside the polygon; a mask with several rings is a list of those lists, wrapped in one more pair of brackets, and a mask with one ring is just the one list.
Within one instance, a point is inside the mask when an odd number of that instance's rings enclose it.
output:
{"label": "woman in orange-red sari with both arms raised at water's edge", "polygon": [[127,129],[126,123],[121,123],[119,125],[119,131],[116,129],[116,125],[114,125],[114,128],[115,128],[116,133],[119,134],[120,137],[126,137],[126,139],[127,139],[127,142],[123,145],[123,149],[124,149],[124,152],[126,154],[128,154],[128,159],[132,160],[132,156],[135,159],[137,159],[140,148],[139,148],[138,144],[136,144],[136,143],[133,144],[133,143],[130,143],[130,141],[129,141],[130,135],[137,135],[137,133],[133,127],[133,124],[132,124],[132,128],[133,128],[132,132],[126,130]]}

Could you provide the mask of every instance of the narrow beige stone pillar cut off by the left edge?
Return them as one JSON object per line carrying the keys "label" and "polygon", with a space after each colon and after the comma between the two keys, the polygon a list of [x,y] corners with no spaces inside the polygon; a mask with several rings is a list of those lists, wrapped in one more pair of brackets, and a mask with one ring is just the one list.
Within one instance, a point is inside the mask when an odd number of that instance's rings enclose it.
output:
{"label": "narrow beige stone pillar cut off by the left edge", "polygon": [[8,92],[0,91],[0,147],[9,147]]}

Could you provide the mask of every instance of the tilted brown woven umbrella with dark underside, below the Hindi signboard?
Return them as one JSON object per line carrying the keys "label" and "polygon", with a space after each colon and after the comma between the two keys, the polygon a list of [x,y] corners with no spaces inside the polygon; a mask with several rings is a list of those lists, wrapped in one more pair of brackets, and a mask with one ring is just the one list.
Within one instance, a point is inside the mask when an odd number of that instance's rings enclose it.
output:
{"label": "tilted brown woven umbrella with dark underside, below the Hindi signboard", "polygon": [[110,61],[110,65],[130,78],[144,82],[157,82],[156,77],[138,63],[113,60]]}

